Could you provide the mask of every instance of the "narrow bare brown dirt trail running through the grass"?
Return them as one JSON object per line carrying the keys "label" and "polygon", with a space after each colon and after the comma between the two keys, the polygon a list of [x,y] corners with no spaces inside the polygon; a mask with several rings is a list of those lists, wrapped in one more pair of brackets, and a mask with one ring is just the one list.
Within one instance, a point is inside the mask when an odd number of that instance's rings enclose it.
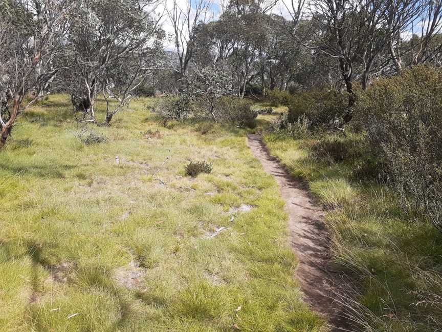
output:
{"label": "narrow bare brown dirt trail running through the grass", "polygon": [[338,289],[333,286],[329,272],[328,233],[323,226],[324,212],[313,202],[299,180],[292,178],[285,168],[270,156],[261,136],[250,134],[248,144],[253,155],[261,161],[264,171],[279,185],[285,209],[289,214],[291,246],[299,264],[296,277],[305,295],[304,300],[313,310],[323,315],[332,331],[348,331],[348,322],[342,317]]}

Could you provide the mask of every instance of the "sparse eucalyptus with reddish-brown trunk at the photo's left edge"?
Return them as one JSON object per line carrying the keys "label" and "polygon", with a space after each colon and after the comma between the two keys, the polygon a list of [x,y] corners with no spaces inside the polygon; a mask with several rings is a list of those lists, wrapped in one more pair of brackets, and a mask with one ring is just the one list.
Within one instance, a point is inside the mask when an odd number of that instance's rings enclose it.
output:
{"label": "sparse eucalyptus with reddish-brown trunk at the photo's left edge", "polygon": [[60,69],[54,59],[69,8],[67,0],[0,1],[0,148]]}

